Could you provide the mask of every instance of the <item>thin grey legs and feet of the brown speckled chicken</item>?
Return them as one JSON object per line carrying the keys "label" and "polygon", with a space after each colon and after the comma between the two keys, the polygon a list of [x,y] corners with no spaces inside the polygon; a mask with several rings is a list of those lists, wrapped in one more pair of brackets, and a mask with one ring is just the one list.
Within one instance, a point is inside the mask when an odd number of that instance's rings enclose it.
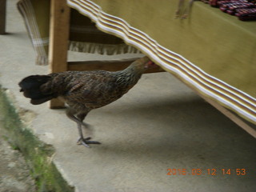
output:
{"label": "thin grey legs and feet of the brown speckled chicken", "polygon": [[86,124],[83,123],[82,120],[83,120],[84,118],[86,118],[86,114],[87,114],[87,113],[78,114],[78,117],[75,117],[72,110],[70,110],[70,109],[67,109],[67,110],[66,110],[66,116],[67,116],[68,118],[70,118],[72,121],[78,123],[78,133],[79,133],[80,138],[78,138],[78,142],[77,142],[77,143],[78,143],[78,144],[82,144],[83,146],[86,146],[86,147],[90,147],[88,144],[101,144],[100,142],[89,141],[90,138],[84,138],[84,137],[83,137],[83,134],[82,134],[82,126],[85,126],[85,127],[86,127]]}

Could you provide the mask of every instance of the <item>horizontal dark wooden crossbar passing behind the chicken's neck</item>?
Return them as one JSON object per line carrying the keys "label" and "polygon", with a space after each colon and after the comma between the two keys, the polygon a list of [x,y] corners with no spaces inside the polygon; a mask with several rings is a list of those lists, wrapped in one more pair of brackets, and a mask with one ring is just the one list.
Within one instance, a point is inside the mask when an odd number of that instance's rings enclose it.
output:
{"label": "horizontal dark wooden crossbar passing behind the chicken's neck", "polygon": [[[109,60],[109,61],[86,61],[86,62],[68,62],[68,70],[123,70],[138,58]],[[155,72],[164,72],[161,67],[146,70],[146,74]]]}

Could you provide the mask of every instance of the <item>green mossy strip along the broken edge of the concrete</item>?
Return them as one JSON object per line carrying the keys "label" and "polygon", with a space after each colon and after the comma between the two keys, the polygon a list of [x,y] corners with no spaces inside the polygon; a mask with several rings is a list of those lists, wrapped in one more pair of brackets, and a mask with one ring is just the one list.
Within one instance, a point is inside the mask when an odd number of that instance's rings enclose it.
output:
{"label": "green mossy strip along the broken edge of the concrete", "polygon": [[71,192],[74,187],[69,186],[54,166],[52,157],[54,148],[46,145],[26,128],[13,103],[0,87],[1,122],[7,130],[8,140],[14,149],[22,151],[40,192]]}

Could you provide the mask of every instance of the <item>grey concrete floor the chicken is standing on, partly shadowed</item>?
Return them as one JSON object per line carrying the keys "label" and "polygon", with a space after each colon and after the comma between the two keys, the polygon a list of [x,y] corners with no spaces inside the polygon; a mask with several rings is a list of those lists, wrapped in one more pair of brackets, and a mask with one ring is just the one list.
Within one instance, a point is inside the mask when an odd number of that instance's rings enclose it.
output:
{"label": "grey concrete floor the chicken is standing on, partly shadowed", "polygon": [[[123,98],[92,111],[86,122],[102,145],[77,146],[76,125],[64,110],[32,106],[19,93],[22,78],[47,74],[48,68],[34,65],[35,53],[15,2],[8,1],[9,34],[0,36],[0,84],[18,107],[30,111],[26,123],[54,146],[53,161],[75,191],[256,191],[255,138],[168,73],[145,74]],[[76,60],[98,57],[70,53]],[[167,175],[168,169],[186,169],[187,174]],[[202,174],[191,174],[194,169]],[[222,169],[231,174],[223,175]],[[246,174],[238,176],[236,169],[246,169]]]}

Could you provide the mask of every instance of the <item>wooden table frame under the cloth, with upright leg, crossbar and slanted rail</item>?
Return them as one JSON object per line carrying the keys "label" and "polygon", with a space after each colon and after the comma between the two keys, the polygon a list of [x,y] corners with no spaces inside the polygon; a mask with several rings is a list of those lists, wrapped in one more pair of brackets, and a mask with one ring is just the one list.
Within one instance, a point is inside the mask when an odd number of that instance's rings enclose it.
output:
{"label": "wooden table frame under the cloth, with upright leg, crossbar and slanted rail", "polygon": [[[51,0],[51,18],[50,18],[50,72],[61,72],[66,70],[122,70],[134,61],[134,59],[126,61],[108,61],[108,62],[67,62],[68,38],[70,30],[70,7],[66,5],[65,0]],[[147,71],[148,73],[160,72],[162,69]],[[206,98],[198,91],[195,92],[209,102],[212,106],[218,109],[226,117],[241,126],[254,138],[256,138],[256,130],[254,125],[248,124],[246,121],[239,118],[238,115],[230,112],[218,102]],[[50,108],[62,107],[62,102],[54,99],[50,102]]]}

